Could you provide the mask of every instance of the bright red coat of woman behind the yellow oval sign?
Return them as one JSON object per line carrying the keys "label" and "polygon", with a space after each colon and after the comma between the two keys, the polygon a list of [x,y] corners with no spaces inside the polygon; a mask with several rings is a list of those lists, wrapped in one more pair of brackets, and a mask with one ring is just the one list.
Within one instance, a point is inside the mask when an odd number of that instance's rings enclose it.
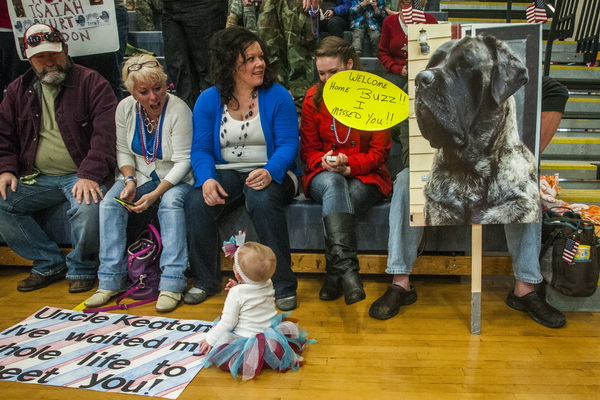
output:
{"label": "bright red coat of woman behind the yellow oval sign", "polygon": [[318,173],[325,171],[321,168],[321,157],[329,150],[333,154],[344,153],[348,156],[351,178],[357,178],[364,183],[377,186],[384,196],[392,192],[390,173],[385,167],[385,162],[390,154],[392,140],[390,130],[367,132],[351,129],[345,143],[348,127],[335,121],[339,141],[331,129],[332,116],[321,102],[315,105],[313,96],[317,86],[306,92],[302,105],[302,122],[300,124],[300,157],[306,164],[302,176],[304,194],[310,197],[310,182]]}

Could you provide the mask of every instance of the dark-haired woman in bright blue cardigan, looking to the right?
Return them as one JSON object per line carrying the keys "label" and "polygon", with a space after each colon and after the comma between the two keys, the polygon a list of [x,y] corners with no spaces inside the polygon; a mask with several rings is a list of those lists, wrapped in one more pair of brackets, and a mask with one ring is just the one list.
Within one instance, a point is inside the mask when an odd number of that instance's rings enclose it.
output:
{"label": "dark-haired woman in bright blue cardigan, looking to the right", "polygon": [[299,147],[292,97],[274,83],[265,46],[248,29],[215,34],[210,68],[215,86],[194,107],[191,162],[196,186],[186,199],[189,258],[195,284],[184,296],[198,304],[221,291],[219,220],[245,205],[260,243],[277,256],[277,307],[296,308],[284,206],[297,191],[291,170]]}

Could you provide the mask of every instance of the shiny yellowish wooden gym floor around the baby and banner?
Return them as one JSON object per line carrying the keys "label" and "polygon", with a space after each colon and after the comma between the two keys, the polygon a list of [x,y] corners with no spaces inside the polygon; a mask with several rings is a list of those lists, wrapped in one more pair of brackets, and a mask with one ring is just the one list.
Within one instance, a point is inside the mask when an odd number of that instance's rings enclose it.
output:
{"label": "shiny yellowish wooden gym floor around the baby and banner", "polygon": [[[27,267],[0,267],[0,331],[42,306],[74,308],[91,294],[68,294],[66,282],[31,293],[16,290]],[[201,370],[179,399],[600,399],[600,313],[567,313],[565,328],[534,323],[504,304],[512,280],[484,277],[482,334],[469,333],[470,283],[460,277],[415,277],[419,300],[400,315],[368,316],[386,288],[382,276],[365,278],[367,300],[317,298],[317,275],[299,278],[300,325],[318,340],[300,371],[264,371],[236,382],[226,372]],[[165,316],[212,320],[225,293]],[[157,315],[152,306],[129,311]],[[141,399],[140,396],[0,382],[0,399]]]}

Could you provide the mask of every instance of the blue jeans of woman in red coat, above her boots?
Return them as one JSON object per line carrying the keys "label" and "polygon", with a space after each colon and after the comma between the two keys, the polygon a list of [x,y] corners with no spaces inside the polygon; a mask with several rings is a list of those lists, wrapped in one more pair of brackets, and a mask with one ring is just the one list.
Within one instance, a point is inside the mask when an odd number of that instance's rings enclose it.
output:
{"label": "blue jeans of woman in red coat, above her boots", "polygon": [[335,213],[360,215],[382,197],[377,186],[330,171],[323,171],[312,179],[310,195],[323,206],[323,217]]}

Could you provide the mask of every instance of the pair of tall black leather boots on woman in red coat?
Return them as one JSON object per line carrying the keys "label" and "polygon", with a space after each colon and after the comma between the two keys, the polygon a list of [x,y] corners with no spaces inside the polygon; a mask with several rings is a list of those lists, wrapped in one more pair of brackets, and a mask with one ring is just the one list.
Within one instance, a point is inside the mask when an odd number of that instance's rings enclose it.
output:
{"label": "pair of tall black leather boots on woman in red coat", "polygon": [[358,273],[360,267],[356,254],[354,215],[330,214],[323,218],[323,224],[325,226],[325,257],[329,270],[319,297],[334,300],[343,292],[344,300],[348,305],[364,300],[366,294]]}

